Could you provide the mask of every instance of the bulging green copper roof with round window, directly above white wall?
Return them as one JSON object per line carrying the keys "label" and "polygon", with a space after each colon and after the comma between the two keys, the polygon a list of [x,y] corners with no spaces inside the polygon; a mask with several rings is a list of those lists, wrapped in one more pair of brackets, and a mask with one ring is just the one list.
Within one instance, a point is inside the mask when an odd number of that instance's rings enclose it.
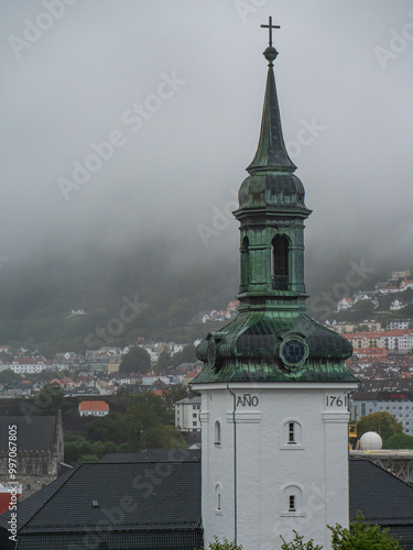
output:
{"label": "bulging green copper roof with round window, directly above white wall", "polygon": [[[308,355],[297,367],[286,366],[281,345],[286,338],[305,342]],[[211,343],[213,342],[213,343]],[[215,346],[214,364],[208,346]],[[285,311],[243,311],[207,336],[197,349],[205,362],[193,384],[209,382],[357,382],[345,367],[351,344],[306,315]]]}

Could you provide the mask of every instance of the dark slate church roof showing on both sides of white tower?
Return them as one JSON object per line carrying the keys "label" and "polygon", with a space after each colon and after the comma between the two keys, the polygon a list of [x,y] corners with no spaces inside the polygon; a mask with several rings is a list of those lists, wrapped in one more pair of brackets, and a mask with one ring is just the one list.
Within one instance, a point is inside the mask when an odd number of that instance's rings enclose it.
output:
{"label": "dark slate church roof showing on both sides of white tower", "polygon": [[[413,487],[370,460],[350,459],[350,517],[389,527],[413,549]],[[97,502],[94,506],[93,501]],[[203,546],[200,461],[87,463],[18,505],[19,550]],[[0,516],[0,548],[10,513]],[[98,542],[98,543],[96,543]]]}

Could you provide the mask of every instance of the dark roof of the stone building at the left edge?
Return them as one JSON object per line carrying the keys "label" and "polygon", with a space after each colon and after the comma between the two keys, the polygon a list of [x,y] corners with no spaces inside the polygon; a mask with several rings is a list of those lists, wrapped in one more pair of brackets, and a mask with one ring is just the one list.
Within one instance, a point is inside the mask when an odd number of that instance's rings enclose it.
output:
{"label": "dark roof of the stone building at the left edge", "polygon": [[7,451],[9,426],[15,425],[19,451],[43,451],[53,447],[56,418],[54,416],[0,417],[0,451]]}

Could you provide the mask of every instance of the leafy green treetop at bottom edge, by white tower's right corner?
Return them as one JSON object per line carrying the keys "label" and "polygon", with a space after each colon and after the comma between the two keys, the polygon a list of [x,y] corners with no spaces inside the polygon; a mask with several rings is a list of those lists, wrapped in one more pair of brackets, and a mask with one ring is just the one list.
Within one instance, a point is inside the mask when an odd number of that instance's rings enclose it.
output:
{"label": "leafy green treetop at bottom edge, by white tower's right corner", "polygon": [[399,541],[389,535],[389,529],[382,529],[378,525],[369,525],[363,521],[361,515],[346,529],[336,524],[335,527],[327,526],[332,530],[333,550],[402,550]]}

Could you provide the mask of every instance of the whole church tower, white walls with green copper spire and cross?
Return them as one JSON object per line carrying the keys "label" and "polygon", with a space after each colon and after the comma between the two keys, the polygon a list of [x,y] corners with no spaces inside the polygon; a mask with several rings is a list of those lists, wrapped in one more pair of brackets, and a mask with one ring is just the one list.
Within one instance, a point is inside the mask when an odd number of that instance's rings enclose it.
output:
{"label": "whole church tower, white walls with green copper spire and cross", "polygon": [[350,343],[306,314],[304,187],[282,134],[270,45],[261,134],[239,190],[238,317],[207,334],[202,394],[205,547],[281,547],[292,529],[329,548],[348,526]]}

